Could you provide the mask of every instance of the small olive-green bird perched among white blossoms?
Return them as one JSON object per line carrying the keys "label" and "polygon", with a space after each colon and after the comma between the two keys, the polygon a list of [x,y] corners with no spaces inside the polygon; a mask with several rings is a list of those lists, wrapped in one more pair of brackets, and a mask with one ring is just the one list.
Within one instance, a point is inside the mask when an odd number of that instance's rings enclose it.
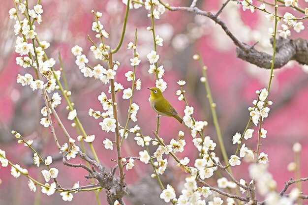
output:
{"label": "small olive-green bird perched among white blossoms", "polygon": [[153,87],[148,89],[151,92],[150,105],[159,116],[174,117],[180,123],[183,122],[183,119],[178,116],[177,111],[172,107],[168,100],[166,100],[164,96],[162,96],[162,93],[159,88]]}

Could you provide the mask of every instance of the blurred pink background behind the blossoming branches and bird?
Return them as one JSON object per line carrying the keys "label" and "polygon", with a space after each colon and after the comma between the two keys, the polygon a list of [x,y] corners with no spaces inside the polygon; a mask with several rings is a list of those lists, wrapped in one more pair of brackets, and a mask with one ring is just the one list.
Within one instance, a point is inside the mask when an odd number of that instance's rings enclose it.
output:
{"label": "blurred pink background behind the blossoming branches and bird", "polygon": [[[34,5],[34,1],[29,1]],[[189,6],[190,1],[170,0],[170,5]],[[94,79],[85,79],[80,73],[78,66],[75,65],[75,58],[70,49],[79,45],[83,47],[84,54],[87,55],[91,65],[98,63],[90,53],[91,43],[87,39],[89,34],[95,39],[91,30],[93,16],[91,10],[103,12],[100,21],[110,33],[108,44],[114,47],[118,43],[122,29],[122,21],[125,5],[122,0],[43,0],[43,22],[37,26],[37,33],[41,40],[47,40],[51,47],[47,50],[47,55],[58,60],[58,53],[61,52],[64,64],[65,74],[68,85],[72,91],[72,100],[75,103],[78,116],[83,123],[88,134],[95,134],[96,139],[94,147],[97,150],[101,162],[107,167],[115,166],[110,161],[110,157],[116,159],[116,152],[106,150],[102,141],[105,138],[113,139],[113,133],[105,133],[98,125],[99,120],[88,116],[89,108],[102,110],[97,100],[97,96],[102,92],[107,92],[108,87],[102,85]],[[308,7],[308,3],[301,2],[301,6]],[[197,6],[207,11],[216,11],[221,5],[220,0],[200,0]],[[38,142],[38,148],[43,156],[57,154],[56,146],[51,137],[49,129],[43,128],[39,124],[41,118],[40,109],[43,107],[43,101],[40,94],[32,92],[31,88],[22,88],[16,83],[17,74],[31,72],[28,69],[22,69],[15,63],[17,54],[14,53],[15,36],[13,32],[14,21],[8,18],[8,10],[13,7],[13,1],[4,1],[0,7],[0,149],[6,151],[6,157],[24,168],[27,168],[31,176],[37,176],[43,181],[40,169],[36,167],[27,167],[25,163],[31,160],[32,153],[25,147],[18,145],[15,137],[10,134],[12,129],[17,130],[27,139],[35,139]],[[285,9],[281,9],[283,14]],[[142,81],[143,88],[136,91],[133,102],[140,106],[138,112],[138,125],[143,134],[151,135],[156,126],[156,114],[151,110],[147,87],[154,86],[154,75],[148,74],[149,63],[146,62],[146,55],[153,49],[153,39],[146,27],[151,26],[150,19],[147,18],[147,12],[144,7],[130,10],[126,35],[123,46],[114,59],[121,62],[117,71],[117,82],[123,84],[124,88],[130,87],[131,83],[126,81],[124,73],[131,70],[129,59],[132,56],[131,50],[126,50],[129,41],[134,40],[134,30],[138,29],[137,51],[140,53],[142,63],[137,66],[136,77]],[[293,11],[292,11],[293,12]],[[295,15],[299,14],[293,12]],[[241,5],[230,2],[223,10],[220,17],[226,21],[231,31],[243,42],[251,45],[257,41],[256,48],[271,53],[269,44],[270,36],[267,29],[271,26],[267,23],[264,14],[256,11],[251,14],[249,11],[243,12]],[[307,22],[305,23],[307,26]],[[258,68],[241,59],[236,58],[235,46],[225,35],[223,30],[215,25],[211,20],[195,16],[192,13],[177,11],[166,11],[160,20],[155,20],[156,34],[164,39],[164,46],[158,47],[158,63],[164,65],[166,70],[163,79],[168,83],[168,88],[164,95],[176,108],[181,116],[184,116],[185,104],[178,101],[176,90],[179,89],[176,81],[186,80],[185,90],[188,103],[195,109],[194,117],[197,120],[207,120],[209,126],[205,129],[206,135],[209,135],[218,144],[215,129],[212,123],[211,112],[207,102],[205,89],[200,83],[201,69],[199,64],[192,59],[195,53],[201,53],[201,56],[208,66],[208,80],[211,85],[213,97],[217,104],[217,115],[221,126],[223,139],[227,148],[228,155],[235,152],[236,146],[232,145],[232,136],[236,132],[243,132],[247,120],[249,119],[248,107],[252,106],[251,101],[256,98],[255,90],[266,88],[268,85],[270,71]],[[291,38],[307,36],[307,29],[300,34],[292,30]],[[55,69],[60,68],[59,61]],[[265,119],[264,128],[268,130],[267,138],[262,140],[261,151],[269,155],[269,170],[277,180],[277,190],[281,190],[284,181],[294,174],[287,171],[287,165],[293,161],[294,154],[292,146],[299,142],[303,146],[301,153],[301,175],[308,176],[308,165],[305,156],[308,155],[308,73],[307,68],[303,68],[295,62],[290,62],[283,68],[274,71],[275,78],[270,91],[269,99],[274,102],[271,106],[271,112]],[[126,122],[128,100],[122,99],[122,94],[118,94],[119,118],[120,123]],[[70,121],[66,120],[67,111],[64,100],[57,108],[62,116],[62,121],[71,133],[71,136],[77,138],[77,133],[70,126]],[[186,150],[179,154],[180,158],[185,156],[194,158],[197,156],[193,146],[189,130],[184,124],[179,124],[175,119],[168,117],[160,118],[159,133],[161,137],[169,142],[176,138],[179,130],[185,132]],[[132,127],[135,123],[130,123]],[[251,126],[251,128],[255,128]],[[60,144],[65,142],[65,137],[61,130],[56,129]],[[257,130],[254,137],[246,142],[246,146],[255,149]],[[124,143],[123,156],[137,156],[142,147],[136,145],[135,136],[129,134]],[[154,150],[152,150],[154,152]],[[216,151],[220,155],[218,149]],[[220,157],[222,158],[222,157]],[[75,160],[76,161],[76,160]],[[31,163],[31,161],[30,161]],[[180,181],[183,181],[185,175],[177,170],[172,159],[169,161],[169,169],[172,170],[177,179],[172,181],[175,187],[181,187]],[[193,164],[192,160],[190,162]],[[71,187],[74,182],[80,181],[81,185],[86,185],[84,175],[87,173],[80,169],[64,167],[61,161],[55,162],[54,166],[60,170],[59,181],[63,187]],[[236,178],[241,177],[248,180],[247,164],[234,168]],[[150,166],[142,166],[137,162],[133,170],[127,172],[126,182],[129,186],[136,184],[142,177],[149,176],[152,173]],[[36,177],[36,178],[37,178]],[[33,193],[27,187],[27,179],[23,176],[15,179],[10,175],[10,169],[0,168],[0,205],[31,205],[34,201],[44,205],[66,204],[62,201],[59,193],[51,197],[44,196],[40,190]],[[154,179],[153,179],[154,180]],[[170,179],[172,180],[172,179]],[[212,183],[213,182],[213,183]],[[210,183],[214,184],[214,180]],[[303,184],[304,191],[308,191],[307,183]],[[180,190],[180,189],[179,189]],[[305,192],[304,192],[305,193]],[[73,202],[76,205],[95,204],[93,193],[74,194]],[[102,204],[105,204],[104,191],[100,194]],[[124,201],[129,203],[129,197]],[[136,203],[138,204],[138,203]],[[161,203],[163,204],[163,203]]]}

